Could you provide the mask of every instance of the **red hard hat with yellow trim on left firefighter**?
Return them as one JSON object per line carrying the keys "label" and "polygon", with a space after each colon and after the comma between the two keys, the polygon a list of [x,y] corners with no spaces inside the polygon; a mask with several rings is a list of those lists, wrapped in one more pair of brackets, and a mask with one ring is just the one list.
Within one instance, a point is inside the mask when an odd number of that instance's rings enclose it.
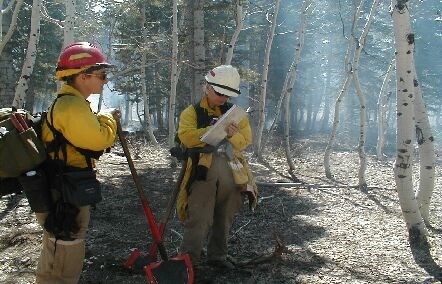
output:
{"label": "red hard hat with yellow trim on left firefighter", "polygon": [[111,67],[100,49],[88,42],[76,42],[65,47],[58,58],[56,77],[63,80],[92,66]]}

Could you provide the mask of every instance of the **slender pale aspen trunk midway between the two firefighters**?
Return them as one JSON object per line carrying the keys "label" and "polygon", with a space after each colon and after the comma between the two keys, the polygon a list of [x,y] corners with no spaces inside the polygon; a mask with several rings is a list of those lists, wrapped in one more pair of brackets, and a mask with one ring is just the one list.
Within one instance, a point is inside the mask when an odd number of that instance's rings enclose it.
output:
{"label": "slender pale aspen trunk midway between the two firefighters", "polygon": [[[141,12],[141,28],[143,29],[143,50],[141,51],[141,93],[143,95],[143,102],[144,102],[144,125],[143,129],[144,132],[149,137],[149,141],[151,141],[154,145],[158,145],[158,141],[155,138],[155,135],[153,134],[153,127],[152,127],[152,119],[150,117],[150,97],[147,94],[147,86],[146,86],[146,49],[148,45],[148,38],[147,38],[147,28],[146,28],[146,6],[143,6],[143,11]],[[138,112],[137,112],[138,113]]]}

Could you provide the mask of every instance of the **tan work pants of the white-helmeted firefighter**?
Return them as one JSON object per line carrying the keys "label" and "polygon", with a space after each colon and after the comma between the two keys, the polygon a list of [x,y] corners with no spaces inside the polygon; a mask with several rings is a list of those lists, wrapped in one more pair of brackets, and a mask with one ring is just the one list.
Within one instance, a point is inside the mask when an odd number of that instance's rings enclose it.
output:
{"label": "tan work pants of the white-helmeted firefighter", "polygon": [[213,155],[207,179],[194,181],[190,192],[181,252],[188,253],[194,263],[199,261],[211,228],[208,259],[225,260],[230,227],[242,205],[241,192],[234,183],[227,158]]}

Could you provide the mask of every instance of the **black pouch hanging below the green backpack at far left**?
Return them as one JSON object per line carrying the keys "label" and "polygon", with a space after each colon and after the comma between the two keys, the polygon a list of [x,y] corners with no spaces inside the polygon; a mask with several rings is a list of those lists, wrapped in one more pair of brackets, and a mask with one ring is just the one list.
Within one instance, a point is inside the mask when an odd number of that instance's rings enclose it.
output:
{"label": "black pouch hanging below the green backpack at far left", "polygon": [[31,210],[46,213],[52,205],[51,191],[44,170],[38,168],[22,174],[18,181],[25,192]]}

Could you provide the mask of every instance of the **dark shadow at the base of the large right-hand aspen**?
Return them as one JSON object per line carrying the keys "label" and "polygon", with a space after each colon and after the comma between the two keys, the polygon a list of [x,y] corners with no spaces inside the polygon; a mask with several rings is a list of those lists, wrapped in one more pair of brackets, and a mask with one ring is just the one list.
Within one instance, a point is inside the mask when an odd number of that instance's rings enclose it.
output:
{"label": "dark shadow at the base of the large right-hand aspen", "polygon": [[442,281],[442,267],[434,261],[427,238],[420,237],[420,233],[412,229],[409,231],[408,241],[416,264],[438,281]]}

